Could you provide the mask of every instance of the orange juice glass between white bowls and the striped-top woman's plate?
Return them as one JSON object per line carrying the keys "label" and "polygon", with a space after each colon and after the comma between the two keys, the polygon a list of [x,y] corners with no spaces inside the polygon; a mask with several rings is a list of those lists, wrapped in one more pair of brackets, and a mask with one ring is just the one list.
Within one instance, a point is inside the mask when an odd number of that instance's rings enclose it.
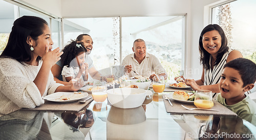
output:
{"label": "orange juice glass between white bowls and the striped-top woman's plate", "polygon": [[163,92],[164,88],[165,88],[164,77],[163,76],[154,77],[153,90],[155,92],[161,93]]}

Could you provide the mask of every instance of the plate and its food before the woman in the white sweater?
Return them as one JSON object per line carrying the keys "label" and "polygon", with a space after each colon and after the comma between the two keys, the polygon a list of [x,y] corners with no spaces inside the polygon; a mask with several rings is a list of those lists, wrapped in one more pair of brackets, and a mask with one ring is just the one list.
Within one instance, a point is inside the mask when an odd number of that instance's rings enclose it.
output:
{"label": "plate and its food before the woman in the white sweater", "polygon": [[52,102],[69,103],[84,99],[87,96],[87,92],[56,92],[44,97],[44,99]]}

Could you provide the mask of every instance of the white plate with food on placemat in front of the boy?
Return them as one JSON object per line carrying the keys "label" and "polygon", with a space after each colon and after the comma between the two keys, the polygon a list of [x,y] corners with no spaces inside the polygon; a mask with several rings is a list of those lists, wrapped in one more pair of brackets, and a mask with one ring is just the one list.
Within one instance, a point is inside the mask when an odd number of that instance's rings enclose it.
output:
{"label": "white plate with food on placemat in front of the boy", "polygon": [[170,92],[167,95],[170,99],[175,101],[179,101],[182,103],[194,104],[195,94],[193,92],[185,92],[185,91],[175,91]]}

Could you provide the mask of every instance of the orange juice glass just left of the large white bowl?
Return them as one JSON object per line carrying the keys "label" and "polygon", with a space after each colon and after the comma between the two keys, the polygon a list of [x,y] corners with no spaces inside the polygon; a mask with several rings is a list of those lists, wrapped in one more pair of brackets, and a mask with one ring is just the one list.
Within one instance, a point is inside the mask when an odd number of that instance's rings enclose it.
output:
{"label": "orange juice glass just left of the large white bowl", "polygon": [[97,103],[104,102],[106,100],[106,82],[105,81],[94,81],[92,88],[93,100]]}

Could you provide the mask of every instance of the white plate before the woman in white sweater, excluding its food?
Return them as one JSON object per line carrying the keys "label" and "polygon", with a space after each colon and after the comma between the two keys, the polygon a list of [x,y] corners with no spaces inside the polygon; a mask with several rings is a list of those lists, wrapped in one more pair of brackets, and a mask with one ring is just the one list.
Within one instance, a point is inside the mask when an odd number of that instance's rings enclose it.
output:
{"label": "white plate before the woman in white sweater, excluding its food", "polygon": [[62,101],[60,101],[58,99],[52,99],[52,98],[59,98],[62,95],[69,96],[69,95],[72,95],[72,94],[74,94],[74,92],[56,92],[54,94],[51,94],[51,95],[48,95],[48,96],[44,97],[44,99],[47,100],[47,101],[52,101],[52,102],[69,103],[69,102],[74,102],[74,101],[81,100],[81,99],[86,98],[88,96],[87,92],[81,92],[81,94],[83,94],[82,98],[77,98],[77,99],[72,99],[72,100],[62,100]]}

